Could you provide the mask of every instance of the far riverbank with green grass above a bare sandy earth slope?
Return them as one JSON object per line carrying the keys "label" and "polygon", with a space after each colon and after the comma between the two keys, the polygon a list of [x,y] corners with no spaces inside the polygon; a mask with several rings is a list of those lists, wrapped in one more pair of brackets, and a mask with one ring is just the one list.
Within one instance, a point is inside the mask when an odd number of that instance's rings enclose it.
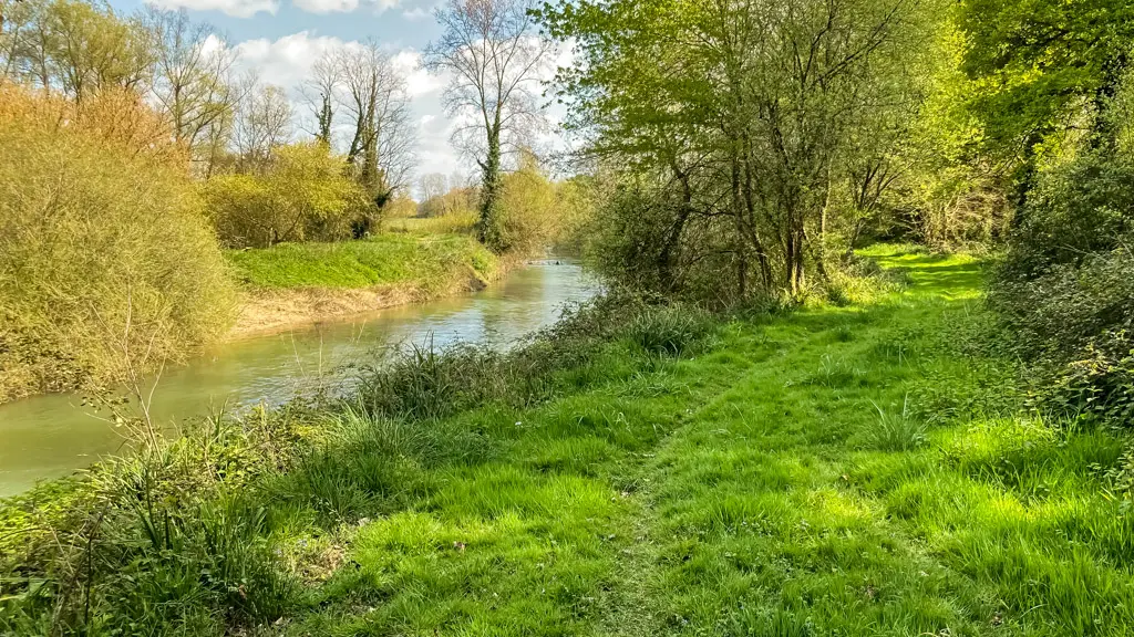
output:
{"label": "far riverbank with green grass above a bare sandy earth slope", "polygon": [[456,233],[287,244],[226,258],[244,288],[230,339],[481,290],[514,265]]}

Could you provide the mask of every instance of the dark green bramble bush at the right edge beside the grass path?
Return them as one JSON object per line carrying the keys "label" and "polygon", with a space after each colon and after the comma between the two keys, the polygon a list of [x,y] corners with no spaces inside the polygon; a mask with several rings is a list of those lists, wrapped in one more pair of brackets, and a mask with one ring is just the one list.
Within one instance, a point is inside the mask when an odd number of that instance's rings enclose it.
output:
{"label": "dark green bramble bush at the right edge beside the grass path", "polygon": [[1085,152],[1047,171],[989,301],[1032,368],[1038,405],[1134,415],[1134,158]]}

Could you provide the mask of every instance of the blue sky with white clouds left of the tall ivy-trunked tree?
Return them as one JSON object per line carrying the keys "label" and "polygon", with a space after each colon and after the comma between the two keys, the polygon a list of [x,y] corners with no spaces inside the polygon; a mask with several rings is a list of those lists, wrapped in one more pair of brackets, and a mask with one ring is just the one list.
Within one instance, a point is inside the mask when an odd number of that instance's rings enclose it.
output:
{"label": "blue sky with white clouds left of the tall ivy-trunked tree", "polygon": [[[239,53],[239,70],[255,70],[266,84],[295,91],[320,54],[354,41],[375,40],[407,76],[417,124],[417,173],[469,175],[471,162],[450,144],[451,125],[441,105],[446,80],[418,67],[421,52],[440,35],[432,11],[438,0],[149,0],[185,9],[211,24]],[[111,0],[133,12],[143,0]],[[297,111],[303,109],[298,102]]]}

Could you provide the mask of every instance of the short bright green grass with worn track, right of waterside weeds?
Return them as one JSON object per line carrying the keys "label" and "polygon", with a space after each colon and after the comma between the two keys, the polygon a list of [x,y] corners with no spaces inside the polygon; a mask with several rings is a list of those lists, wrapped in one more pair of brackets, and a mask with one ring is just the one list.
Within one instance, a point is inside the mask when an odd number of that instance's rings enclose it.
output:
{"label": "short bright green grass with worn track, right of waterside weeds", "polygon": [[396,498],[285,542],[338,568],[302,570],[281,630],[1134,634],[1134,521],[1092,469],[1122,441],[1014,415],[966,339],[976,263],[874,256],[911,287],[438,423],[450,450]]}

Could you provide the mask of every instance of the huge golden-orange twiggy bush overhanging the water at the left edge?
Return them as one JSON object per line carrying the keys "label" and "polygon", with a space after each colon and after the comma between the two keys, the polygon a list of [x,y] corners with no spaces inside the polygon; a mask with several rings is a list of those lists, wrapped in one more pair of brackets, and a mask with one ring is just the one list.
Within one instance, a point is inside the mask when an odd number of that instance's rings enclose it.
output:
{"label": "huge golden-orange twiggy bush overhanging the water at the left edge", "polygon": [[235,291],[169,139],[129,93],[0,86],[0,400],[111,382],[227,330]]}

